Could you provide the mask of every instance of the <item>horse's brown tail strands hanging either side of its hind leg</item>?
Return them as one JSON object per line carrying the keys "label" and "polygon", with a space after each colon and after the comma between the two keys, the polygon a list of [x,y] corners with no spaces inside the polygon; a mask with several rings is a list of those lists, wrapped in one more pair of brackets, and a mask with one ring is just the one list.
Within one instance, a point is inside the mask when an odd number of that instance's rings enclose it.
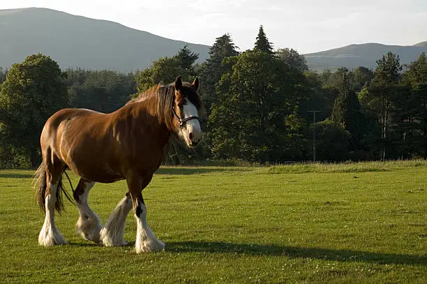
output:
{"label": "horse's brown tail strands hanging either side of its hind leg", "polygon": [[[67,174],[67,177],[68,177],[68,174]],[[69,177],[68,177],[68,181],[70,181]],[[71,184],[71,181],[70,181],[70,184]],[[46,197],[47,184],[46,184],[46,168],[44,163],[41,163],[38,169],[36,170],[36,174],[34,174],[33,185],[34,185],[34,188],[36,189],[37,203],[40,206],[40,208],[45,212],[46,211],[45,197]],[[71,188],[73,188],[73,186]],[[59,213],[61,213],[61,211],[63,211],[63,208],[64,208],[62,193],[63,195],[66,196],[66,198],[71,203],[73,204],[75,203],[73,199],[70,197],[70,195],[66,192],[65,188],[63,187],[62,175],[61,175],[61,178],[59,179],[59,183],[57,187],[57,193],[56,193],[57,198],[55,202],[55,209],[57,209]]]}

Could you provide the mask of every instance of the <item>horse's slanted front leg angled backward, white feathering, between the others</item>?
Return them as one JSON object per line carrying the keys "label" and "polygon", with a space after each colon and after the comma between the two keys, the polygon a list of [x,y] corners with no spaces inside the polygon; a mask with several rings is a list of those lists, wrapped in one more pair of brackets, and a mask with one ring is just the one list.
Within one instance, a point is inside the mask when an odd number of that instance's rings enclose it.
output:
{"label": "horse's slanted front leg angled backward, white feathering, between the others", "polygon": [[117,204],[112,214],[105,223],[105,227],[100,232],[100,239],[104,246],[124,246],[123,240],[126,217],[132,209],[132,200],[129,193]]}

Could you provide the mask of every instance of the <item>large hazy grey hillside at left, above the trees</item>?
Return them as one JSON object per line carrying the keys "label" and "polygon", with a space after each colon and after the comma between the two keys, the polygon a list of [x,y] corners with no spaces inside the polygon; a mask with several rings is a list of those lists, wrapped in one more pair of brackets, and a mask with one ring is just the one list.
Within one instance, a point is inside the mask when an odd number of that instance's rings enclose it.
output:
{"label": "large hazy grey hillside at left, above the trees", "polygon": [[188,45],[204,61],[209,46],[184,43],[46,8],[0,10],[0,66],[8,68],[41,52],[61,68],[111,69],[128,72],[147,68]]}

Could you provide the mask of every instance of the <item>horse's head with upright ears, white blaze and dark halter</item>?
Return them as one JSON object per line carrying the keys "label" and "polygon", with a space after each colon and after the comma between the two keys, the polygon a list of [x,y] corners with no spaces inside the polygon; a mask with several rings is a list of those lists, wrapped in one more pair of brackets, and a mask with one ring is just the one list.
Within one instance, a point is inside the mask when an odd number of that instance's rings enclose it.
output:
{"label": "horse's head with upright ears, white blaze and dark halter", "polygon": [[181,76],[174,82],[175,99],[172,107],[176,133],[188,147],[195,147],[202,140],[203,133],[200,127],[200,112],[203,110],[199,94],[199,78],[193,84],[182,82]]}

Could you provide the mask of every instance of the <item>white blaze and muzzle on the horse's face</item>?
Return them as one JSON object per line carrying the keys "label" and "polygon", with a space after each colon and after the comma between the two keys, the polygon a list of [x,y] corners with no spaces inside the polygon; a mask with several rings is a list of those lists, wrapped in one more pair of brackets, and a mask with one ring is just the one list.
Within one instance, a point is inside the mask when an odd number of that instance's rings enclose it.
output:
{"label": "white blaze and muzzle on the horse's face", "polygon": [[[195,107],[193,103],[187,101],[187,103],[183,105],[182,119],[198,116],[197,107]],[[200,142],[200,140],[202,140],[202,128],[200,127],[200,122],[197,119],[190,119],[189,121],[186,121],[181,128],[181,132],[188,146],[195,146]]]}

